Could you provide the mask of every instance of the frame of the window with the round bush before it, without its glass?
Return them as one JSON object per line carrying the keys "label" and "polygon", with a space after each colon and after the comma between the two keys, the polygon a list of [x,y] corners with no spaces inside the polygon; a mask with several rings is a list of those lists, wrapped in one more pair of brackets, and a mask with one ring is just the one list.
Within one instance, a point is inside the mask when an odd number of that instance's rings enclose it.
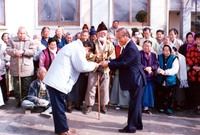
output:
{"label": "frame of the window with the round bush before it, without its glass", "polygon": [[[141,26],[140,22],[132,22],[132,0],[129,0],[130,5],[129,5],[129,22],[120,22],[120,25],[135,25],[135,26]],[[114,0],[113,0],[113,20],[117,20],[114,18]],[[147,22],[143,23],[145,26],[150,25],[150,0],[147,0]]]}

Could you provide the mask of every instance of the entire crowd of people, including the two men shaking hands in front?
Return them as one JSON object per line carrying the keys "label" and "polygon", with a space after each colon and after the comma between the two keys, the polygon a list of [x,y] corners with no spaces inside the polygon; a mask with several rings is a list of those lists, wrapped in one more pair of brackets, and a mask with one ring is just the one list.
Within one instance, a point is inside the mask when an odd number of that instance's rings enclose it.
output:
{"label": "entire crowd of people, including the two men shaking hands in front", "polygon": [[13,90],[17,108],[52,113],[59,135],[75,132],[65,112],[89,114],[98,96],[103,114],[111,105],[128,108],[127,126],[119,132],[134,133],[143,129],[142,113],[154,108],[167,115],[200,112],[200,33],[188,32],[183,42],[175,28],[168,35],[159,29],[154,38],[145,27],[131,37],[114,20],[111,28],[84,24],[75,35],[58,26],[51,37],[43,27],[31,39],[21,26],[17,36],[2,34],[0,86],[0,105]]}

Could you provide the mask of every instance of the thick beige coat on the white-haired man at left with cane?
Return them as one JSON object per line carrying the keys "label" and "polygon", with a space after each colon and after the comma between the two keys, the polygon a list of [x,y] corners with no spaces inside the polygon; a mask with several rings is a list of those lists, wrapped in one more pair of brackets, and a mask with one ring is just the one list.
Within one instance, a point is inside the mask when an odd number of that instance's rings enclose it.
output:
{"label": "thick beige coat on the white-haired man at left with cane", "polygon": [[8,41],[7,53],[10,58],[10,74],[12,76],[18,76],[18,57],[15,56],[16,50],[23,50],[24,53],[20,57],[20,76],[27,77],[34,74],[33,56],[36,52],[36,46],[30,40],[26,38],[25,41],[20,41],[18,37],[13,37]]}

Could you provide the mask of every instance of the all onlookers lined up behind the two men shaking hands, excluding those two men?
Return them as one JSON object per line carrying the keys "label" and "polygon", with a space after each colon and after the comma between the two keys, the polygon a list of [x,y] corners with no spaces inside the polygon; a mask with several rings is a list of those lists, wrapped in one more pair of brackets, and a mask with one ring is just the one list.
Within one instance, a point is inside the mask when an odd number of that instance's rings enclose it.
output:
{"label": "all onlookers lined up behind the two men shaking hands, excluding those two men", "polygon": [[[35,105],[45,104],[46,109],[49,108],[49,94],[42,79],[58,51],[80,39],[83,43],[89,41],[85,43],[90,47],[90,54],[86,56],[88,61],[100,64],[104,60],[115,59],[123,51],[116,38],[118,25],[119,21],[115,20],[112,27],[107,28],[102,22],[95,30],[94,26],[89,29],[84,24],[82,31],[74,36],[72,33],[65,33],[64,27],[59,26],[53,37],[50,37],[50,28],[44,27],[41,34],[34,35],[33,40],[25,27],[19,27],[15,37],[9,38],[8,33],[3,33],[0,43],[0,86],[4,102],[8,100],[10,89],[14,89],[17,107],[22,105],[34,108]],[[157,30],[154,38],[151,29],[145,27],[142,33],[138,31],[130,37],[140,51],[138,57],[141,57],[147,79],[142,99],[143,112],[151,114],[150,108],[153,107],[168,115],[173,114],[175,107],[199,111],[200,34],[188,32],[184,43],[178,38],[175,28],[170,29],[168,34],[167,36],[163,30]],[[34,79],[37,81],[33,84]],[[119,70],[100,66],[95,72],[79,75],[66,97],[67,112],[84,109],[82,111],[85,114],[90,113],[97,98],[98,87],[102,113],[107,113],[108,104],[115,105],[116,109],[129,106],[130,95],[120,87]],[[83,104],[86,105],[85,108]]]}

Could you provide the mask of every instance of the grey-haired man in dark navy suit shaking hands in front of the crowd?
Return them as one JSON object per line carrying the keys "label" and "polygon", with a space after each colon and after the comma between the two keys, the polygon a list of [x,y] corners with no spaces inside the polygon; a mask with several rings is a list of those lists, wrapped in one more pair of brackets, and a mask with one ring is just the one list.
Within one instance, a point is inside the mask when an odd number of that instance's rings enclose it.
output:
{"label": "grey-haired man in dark navy suit shaking hands in front of the crowd", "polygon": [[141,101],[146,85],[146,77],[141,68],[139,51],[127,29],[119,28],[116,33],[121,54],[118,58],[110,61],[103,61],[101,66],[109,67],[111,70],[119,69],[119,81],[122,90],[130,93],[127,126],[120,129],[122,133],[135,133],[142,130],[142,107]]}

